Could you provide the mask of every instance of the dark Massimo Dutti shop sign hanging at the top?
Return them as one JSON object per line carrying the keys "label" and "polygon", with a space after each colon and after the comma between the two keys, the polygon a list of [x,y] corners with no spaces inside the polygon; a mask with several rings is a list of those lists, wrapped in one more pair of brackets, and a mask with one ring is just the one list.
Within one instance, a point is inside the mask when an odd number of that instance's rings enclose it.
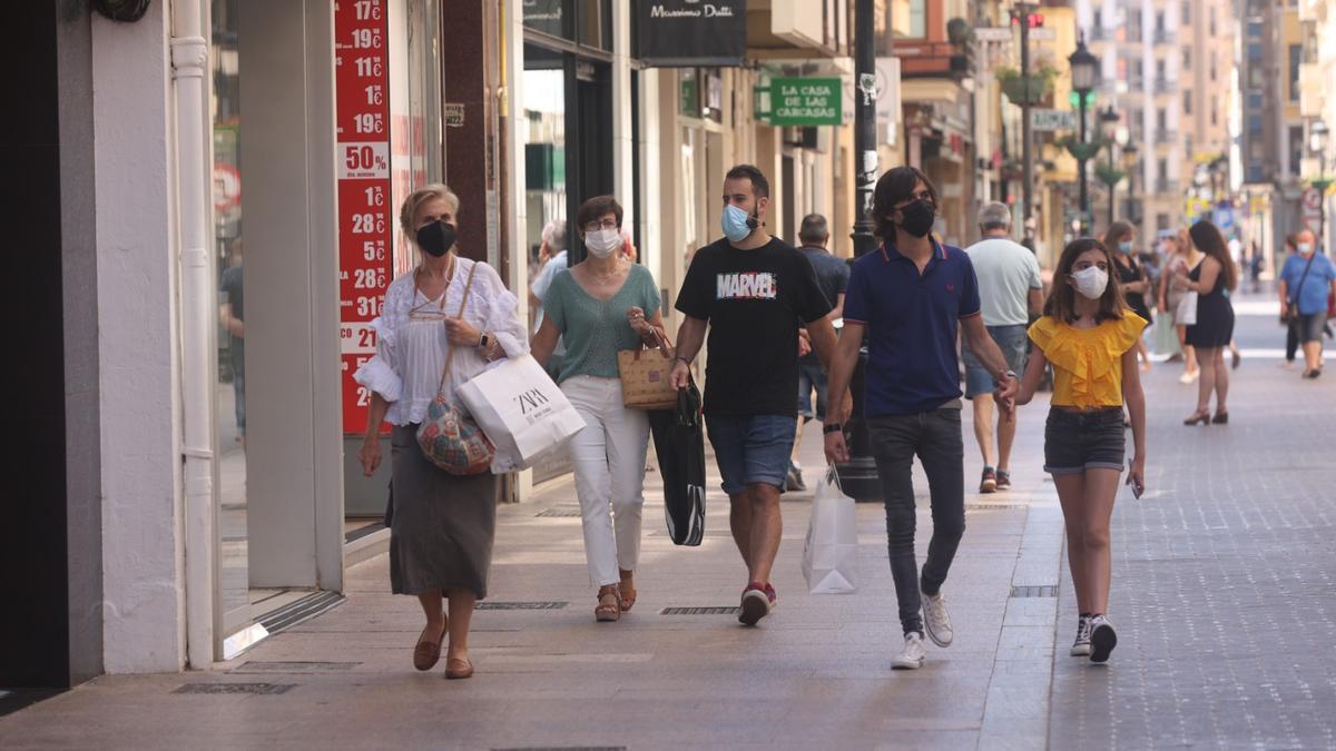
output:
{"label": "dark Massimo Dutti shop sign hanging at the top", "polygon": [[636,0],[635,7],[647,65],[736,67],[747,57],[747,0]]}

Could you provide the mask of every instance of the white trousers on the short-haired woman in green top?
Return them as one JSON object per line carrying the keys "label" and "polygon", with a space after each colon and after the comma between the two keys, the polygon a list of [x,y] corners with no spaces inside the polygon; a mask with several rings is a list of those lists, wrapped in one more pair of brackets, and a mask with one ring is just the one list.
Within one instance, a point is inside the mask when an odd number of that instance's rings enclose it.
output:
{"label": "white trousers on the short-haired woman in green top", "polygon": [[570,460],[589,579],[596,587],[616,584],[621,580],[617,569],[633,571],[640,560],[649,417],[621,405],[619,378],[576,376],[561,390],[585,420],[570,441]]}

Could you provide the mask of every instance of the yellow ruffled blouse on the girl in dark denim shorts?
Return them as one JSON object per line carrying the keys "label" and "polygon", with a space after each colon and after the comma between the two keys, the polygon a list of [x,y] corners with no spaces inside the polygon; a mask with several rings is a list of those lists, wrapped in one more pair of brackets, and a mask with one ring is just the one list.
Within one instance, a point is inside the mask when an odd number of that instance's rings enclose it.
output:
{"label": "yellow ruffled blouse on the girl in dark denim shorts", "polygon": [[1054,406],[1122,406],[1122,355],[1137,345],[1146,319],[1124,311],[1121,321],[1075,329],[1045,315],[1030,326],[1030,339],[1053,363]]}

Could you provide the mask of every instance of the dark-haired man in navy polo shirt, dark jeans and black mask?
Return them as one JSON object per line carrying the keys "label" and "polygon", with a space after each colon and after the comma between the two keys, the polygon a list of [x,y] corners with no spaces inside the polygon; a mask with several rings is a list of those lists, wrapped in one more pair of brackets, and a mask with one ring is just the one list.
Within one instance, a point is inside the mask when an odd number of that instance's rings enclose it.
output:
{"label": "dark-haired man in navy polo shirt, dark jeans and black mask", "polygon": [[[864,417],[886,501],[891,577],[899,600],[904,649],[895,668],[923,665],[923,631],[951,644],[942,583],[965,533],[965,442],[961,437],[961,370],[955,337],[1001,384],[995,398],[1010,409],[1015,373],[979,315],[970,257],[931,237],[938,196],[927,175],[896,167],[876,183],[872,218],[882,245],[854,263],[844,298],[844,333],[830,366],[830,394],[843,394],[864,335],[868,343]],[[843,426],[827,416],[826,457],[848,461]],[[914,456],[933,497],[933,540],[919,577],[914,559]],[[922,595],[922,596],[921,596]],[[919,616],[922,607],[923,615]]]}

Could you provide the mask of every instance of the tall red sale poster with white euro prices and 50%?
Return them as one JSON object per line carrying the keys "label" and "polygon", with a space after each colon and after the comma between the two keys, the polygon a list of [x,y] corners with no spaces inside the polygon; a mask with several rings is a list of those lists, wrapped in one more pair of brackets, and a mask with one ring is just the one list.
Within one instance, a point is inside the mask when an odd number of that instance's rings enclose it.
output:
{"label": "tall red sale poster with white euro prices and 50%", "polygon": [[[375,354],[370,322],[393,279],[390,233],[389,0],[334,3],[338,151],[339,339],[343,432],[362,433],[370,393],[353,373]],[[381,426],[385,430],[385,425]]]}

